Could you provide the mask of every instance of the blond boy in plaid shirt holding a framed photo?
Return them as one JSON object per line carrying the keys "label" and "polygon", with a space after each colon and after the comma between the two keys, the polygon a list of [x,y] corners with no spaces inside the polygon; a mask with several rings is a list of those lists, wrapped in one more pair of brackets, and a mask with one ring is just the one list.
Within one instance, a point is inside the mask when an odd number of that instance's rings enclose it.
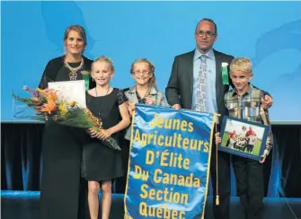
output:
{"label": "blond boy in plaid shirt holding a framed photo", "polygon": [[[235,89],[226,92],[225,105],[230,117],[243,118],[248,121],[270,125],[268,109],[261,106],[264,92],[253,87],[252,62],[248,58],[235,58],[230,65],[230,78]],[[270,130],[261,161],[257,162],[241,156],[232,155],[235,170],[237,196],[240,197],[246,219],[259,219],[262,216],[264,197],[264,181],[262,163],[270,153],[272,147],[272,133]],[[219,133],[216,134],[216,143],[221,142]]]}

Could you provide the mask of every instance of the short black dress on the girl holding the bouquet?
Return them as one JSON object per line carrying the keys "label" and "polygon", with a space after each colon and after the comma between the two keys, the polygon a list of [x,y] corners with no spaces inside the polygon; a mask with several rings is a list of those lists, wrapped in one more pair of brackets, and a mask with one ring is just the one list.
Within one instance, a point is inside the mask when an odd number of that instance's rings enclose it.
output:
{"label": "short black dress on the girl holding the bouquet", "polygon": [[[93,97],[87,92],[87,107],[102,118],[102,127],[114,127],[120,122],[119,106],[127,98],[119,89],[106,96]],[[112,135],[118,141],[118,133]],[[85,180],[113,180],[124,175],[121,152],[103,145],[99,139],[89,138],[84,145],[82,174]]]}

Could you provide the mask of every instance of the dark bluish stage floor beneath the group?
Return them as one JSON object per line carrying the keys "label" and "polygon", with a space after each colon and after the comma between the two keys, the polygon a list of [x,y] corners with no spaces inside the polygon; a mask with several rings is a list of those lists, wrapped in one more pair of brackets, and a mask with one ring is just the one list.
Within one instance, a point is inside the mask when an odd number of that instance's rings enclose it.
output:
{"label": "dark bluish stage floor beneath the group", "polygon": [[[35,191],[1,191],[1,218],[40,219],[39,198]],[[113,194],[110,218],[123,219],[123,209],[123,195]],[[212,197],[208,197],[206,219],[211,218]],[[237,197],[231,199],[231,219],[243,219]],[[265,198],[262,219],[301,219],[301,198]]]}

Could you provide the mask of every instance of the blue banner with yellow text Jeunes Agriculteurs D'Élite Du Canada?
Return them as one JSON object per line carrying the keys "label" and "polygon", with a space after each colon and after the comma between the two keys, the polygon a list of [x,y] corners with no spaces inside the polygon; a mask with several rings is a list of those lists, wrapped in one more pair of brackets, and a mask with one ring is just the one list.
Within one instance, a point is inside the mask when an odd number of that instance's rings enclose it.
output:
{"label": "blue banner with yellow text Jeunes Agriculteurs D'\u00c9lite Du Canada", "polygon": [[214,115],[137,104],[125,218],[203,218]]}

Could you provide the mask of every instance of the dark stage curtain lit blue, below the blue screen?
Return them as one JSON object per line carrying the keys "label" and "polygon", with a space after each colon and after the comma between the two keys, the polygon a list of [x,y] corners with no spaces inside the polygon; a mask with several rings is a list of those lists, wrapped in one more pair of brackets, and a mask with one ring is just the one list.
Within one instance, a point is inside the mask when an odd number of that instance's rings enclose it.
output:
{"label": "dark stage curtain lit blue, below the blue screen", "polygon": [[[40,190],[43,127],[1,123],[2,190]],[[272,130],[275,145],[264,166],[266,196],[301,197],[301,125],[274,125]]]}

